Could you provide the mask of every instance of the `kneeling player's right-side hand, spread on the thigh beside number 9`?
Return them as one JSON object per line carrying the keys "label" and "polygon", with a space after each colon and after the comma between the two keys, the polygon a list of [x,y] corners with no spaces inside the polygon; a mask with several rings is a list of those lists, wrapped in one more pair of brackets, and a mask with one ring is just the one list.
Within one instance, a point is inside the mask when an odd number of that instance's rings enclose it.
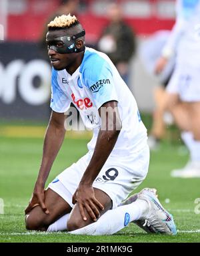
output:
{"label": "kneeling player's right-side hand, spread on the thigh beside number 9", "polygon": [[97,221],[97,218],[100,217],[99,209],[104,209],[103,205],[101,205],[101,203],[95,198],[93,187],[86,184],[79,184],[73,195],[72,203],[77,203],[79,205],[79,210],[83,221],[87,221],[85,210],[93,221]]}

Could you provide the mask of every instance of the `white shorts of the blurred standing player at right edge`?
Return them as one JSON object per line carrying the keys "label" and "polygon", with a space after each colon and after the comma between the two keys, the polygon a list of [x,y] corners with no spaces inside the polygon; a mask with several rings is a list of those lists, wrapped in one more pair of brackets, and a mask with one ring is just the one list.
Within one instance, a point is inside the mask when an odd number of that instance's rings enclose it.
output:
{"label": "white shorts of the blurred standing player at right edge", "polygon": [[199,102],[200,66],[178,65],[167,85],[167,92],[179,94],[183,102]]}

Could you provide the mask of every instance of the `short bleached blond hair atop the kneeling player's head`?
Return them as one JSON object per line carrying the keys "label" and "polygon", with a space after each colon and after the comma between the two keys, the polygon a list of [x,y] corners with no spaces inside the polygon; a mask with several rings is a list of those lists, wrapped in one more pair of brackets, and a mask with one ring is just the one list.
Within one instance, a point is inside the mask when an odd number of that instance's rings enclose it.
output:
{"label": "short bleached blond hair atop the kneeling player's head", "polygon": [[71,16],[69,13],[68,15],[61,15],[59,17],[55,17],[53,21],[50,21],[47,25],[48,29],[56,29],[56,28],[67,28],[72,27],[73,25],[79,24],[79,21],[75,15]]}

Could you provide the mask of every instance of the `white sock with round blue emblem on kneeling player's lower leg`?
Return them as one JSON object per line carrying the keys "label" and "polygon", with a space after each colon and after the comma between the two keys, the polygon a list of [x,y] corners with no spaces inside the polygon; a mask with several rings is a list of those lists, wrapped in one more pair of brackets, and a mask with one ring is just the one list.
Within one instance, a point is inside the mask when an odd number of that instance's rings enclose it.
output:
{"label": "white sock with round blue emblem on kneeling player's lower leg", "polygon": [[95,223],[69,233],[73,235],[112,235],[126,227],[129,222],[140,219],[147,209],[148,203],[138,199],[129,205],[109,210]]}

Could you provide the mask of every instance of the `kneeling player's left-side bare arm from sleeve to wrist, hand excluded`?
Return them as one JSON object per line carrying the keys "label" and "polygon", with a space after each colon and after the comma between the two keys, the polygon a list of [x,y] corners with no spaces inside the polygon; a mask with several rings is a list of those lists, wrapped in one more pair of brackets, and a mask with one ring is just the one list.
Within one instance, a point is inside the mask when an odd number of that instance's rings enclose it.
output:
{"label": "kneeling player's left-side bare arm from sleeve to wrist, hand excluded", "polygon": [[63,139],[65,137],[64,122],[65,116],[63,113],[52,112],[47,132],[45,134],[43,158],[37,178],[37,184],[41,186],[45,186],[53,161],[55,160],[55,157],[63,143]]}

